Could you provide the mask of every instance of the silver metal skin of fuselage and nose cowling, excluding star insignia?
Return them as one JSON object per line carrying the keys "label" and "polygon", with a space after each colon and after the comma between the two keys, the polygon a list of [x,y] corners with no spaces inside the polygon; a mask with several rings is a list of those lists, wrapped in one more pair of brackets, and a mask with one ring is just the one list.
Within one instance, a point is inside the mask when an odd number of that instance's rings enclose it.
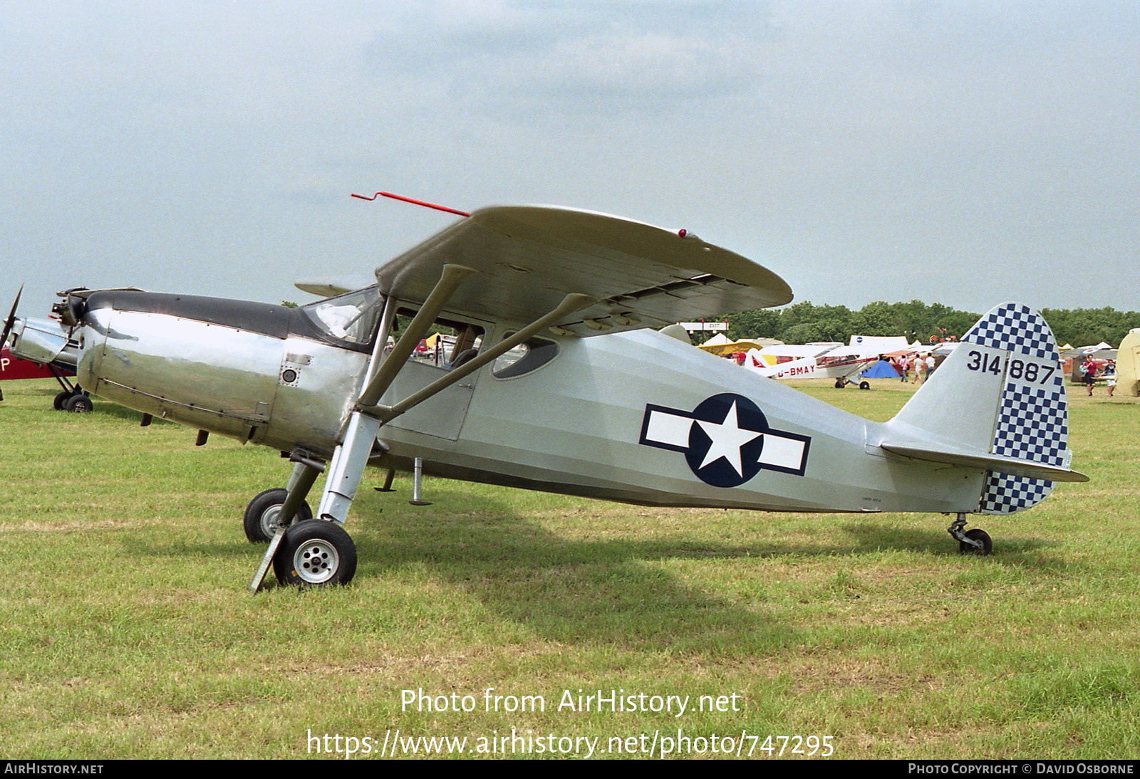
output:
{"label": "silver metal skin of fuselage and nose cowling, excluding star insignia", "polygon": [[[251,304],[253,305],[253,304]],[[466,318],[470,320],[470,318]],[[144,311],[84,315],[79,380],[92,393],[184,425],[328,458],[364,383],[368,354]],[[504,328],[480,322],[483,343]],[[556,338],[536,370],[465,377],[380,428],[373,465],[641,505],[803,511],[974,511],[984,472],[886,454],[880,425],[652,330]],[[392,404],[446,371],[409,362]],[[683,446],[646,443],[651,409],[692,412],[724,393],[774,432],[799,436],[800,473],[762,469],[735,486],[698,477]],[[695,429],[695,427],[694,427]]]}

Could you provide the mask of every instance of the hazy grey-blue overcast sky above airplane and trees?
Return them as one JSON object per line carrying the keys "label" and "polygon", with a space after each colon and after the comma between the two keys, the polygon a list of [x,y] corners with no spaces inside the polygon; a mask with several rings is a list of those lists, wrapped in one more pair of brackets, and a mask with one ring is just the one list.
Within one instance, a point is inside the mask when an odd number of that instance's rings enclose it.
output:
{"label": "hazy grey-blue overcast sky above airplane and trees", "polygon": [[1138,98],[1134,0],[0,0],[0,295],[308,302],[454,219],[384,189],[686,228],[798,301],[1140,310]]}

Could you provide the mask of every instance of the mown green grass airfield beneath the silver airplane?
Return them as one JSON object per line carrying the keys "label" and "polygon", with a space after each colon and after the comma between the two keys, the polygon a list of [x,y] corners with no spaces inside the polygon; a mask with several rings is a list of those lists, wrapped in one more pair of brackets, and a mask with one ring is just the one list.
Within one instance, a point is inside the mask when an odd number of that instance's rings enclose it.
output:
{"label": "mown green grass airfield beneath the silver airplane", "polygon": [[[872,384],[800,388],[877,420],[912,391]],[[98,400],[52,411],[52,382],[2,388],[9,758],[326,757],[333,741],[309,740],[325,735],[378,757],[397,729],[466,737],[469,757],[512,730],[597,738],[595,757],[642,735],[660,756],[678,730],[706,744],[678,756],[705,758],[803,757],[808,736],[840,758],[1140,757],[1138,399],[1070,388],[1092,481],[977,517],[988,558],[960,556],[940,515],[648,509],[438,479],[416,508],[407,479],[380,493],[370,472],[353,583],[251,596],[262,548],[241,517],[287,476],[276,452],[195,448],[192,429],[139,428]],[[545,711],[486,711],[487,688]],[[417,711],[404,690],[475,706]],[[691,702],[560,710],[568,690]],[[693,711],[733,695],[739,711]]]}

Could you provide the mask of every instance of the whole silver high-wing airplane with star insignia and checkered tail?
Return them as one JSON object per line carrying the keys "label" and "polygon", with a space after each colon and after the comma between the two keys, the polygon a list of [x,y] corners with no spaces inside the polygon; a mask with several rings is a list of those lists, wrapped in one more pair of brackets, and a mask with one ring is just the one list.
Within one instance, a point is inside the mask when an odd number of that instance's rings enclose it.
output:
{"label": "whole silver high-wing airplane with star insignia and checkered tail", "polygon": [[[983,555],[990,536],[966,515],[1086,481],[1068,467],[1052,334],[1016,303],[879,424],[653,329],[791,300],[776,274],[684,230],[489,207],[380,265],[373,286],[298,286],[343,294],[287,309],[82,290],[56,306],[92,393],[196,427],[199,443],[214,432],[288,453],[287,484],[245,512],[247,536],[270,542],[251,590],[270,564],[283,583],[352,579],[343,524],[366,465],[389,485],[412,472],[416,503],[431,474],[646,506],[953,514],[960,549]],[[455,333],[439,366],[414,359],[433,323]]]}

